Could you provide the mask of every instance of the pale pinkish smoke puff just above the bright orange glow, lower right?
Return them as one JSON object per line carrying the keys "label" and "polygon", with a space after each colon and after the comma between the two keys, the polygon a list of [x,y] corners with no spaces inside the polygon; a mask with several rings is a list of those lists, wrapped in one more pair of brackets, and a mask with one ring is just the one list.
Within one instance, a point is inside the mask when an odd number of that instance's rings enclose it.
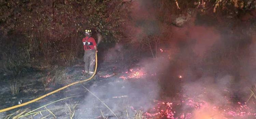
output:
{"label": "pale pinkish smoke puff just above the bright orange glow, lower right", "polygon": [[[207,101],[211,104],[223,105],[227,104],[230,99],[227,94],[232,94],[230,89],[234,78],[226,75],[214,81],[212,77],[200,78],[198,81],[190,82],[183,86],[185,95],[194,99]],[[215,83],[216,82],[216,83]]]}

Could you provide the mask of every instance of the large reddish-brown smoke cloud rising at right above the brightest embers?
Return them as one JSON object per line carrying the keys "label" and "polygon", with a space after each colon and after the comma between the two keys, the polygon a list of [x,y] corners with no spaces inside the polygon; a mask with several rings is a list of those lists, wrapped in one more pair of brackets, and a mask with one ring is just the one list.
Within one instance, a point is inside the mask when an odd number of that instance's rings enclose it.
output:
{"label": "large reddish-brown smoke cloud rising at right above the brightest embers", "polygon": [[[212,107],[232,107],[237,102],[245,104],[250,96],[248,89],[255,83],[255,37],[239,31],[232,33],[229,28],[217,30],[216,27],[195,24],[173,28],[175,41],[172,43],[179,50],[170,61],[172,65],[168,69],[173,70],[168,81],[179,85],[175,87],[179,89],[176,92],[182,92],[185,98],[209,104],[207,108],[196,110],[193,119],[205,119],[203,115],[221,116],[220,111],[213,111]],[[172,77],[177,72],[184,77],[182,83],[176,83]],[[184,106],[183,110],[187,108]],[[224,116],[211,118],[222,119]]]}

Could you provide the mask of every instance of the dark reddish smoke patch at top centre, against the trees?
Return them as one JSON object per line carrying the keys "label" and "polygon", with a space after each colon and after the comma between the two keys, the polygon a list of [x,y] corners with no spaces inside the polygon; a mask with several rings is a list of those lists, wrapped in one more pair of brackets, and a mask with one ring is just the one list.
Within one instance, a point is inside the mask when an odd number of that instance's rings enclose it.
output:
{"label": "dark reddish smoke patch at top centre, against the trees", "polygon": [[145,36],[160,32],[158,20],[155,17],[154,3],[151,0],[134,0],[131,7],[131,21],[126,24],[125,32],[131,43],[141,41]]}

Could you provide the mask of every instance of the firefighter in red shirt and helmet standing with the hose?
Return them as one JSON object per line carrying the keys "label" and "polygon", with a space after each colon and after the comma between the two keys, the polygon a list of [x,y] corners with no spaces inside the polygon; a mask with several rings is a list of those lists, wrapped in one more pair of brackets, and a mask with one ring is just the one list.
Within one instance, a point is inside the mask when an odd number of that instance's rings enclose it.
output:
{"label": "firefighter in red shirt and helmet standing with the hose", "polygon": [[91,37],[91,30],[85,30],[86,37],[83,38],[84,46],[84,68],[85,73],[93,74],[95,68],[95,53],[98,52],[97,44]]}

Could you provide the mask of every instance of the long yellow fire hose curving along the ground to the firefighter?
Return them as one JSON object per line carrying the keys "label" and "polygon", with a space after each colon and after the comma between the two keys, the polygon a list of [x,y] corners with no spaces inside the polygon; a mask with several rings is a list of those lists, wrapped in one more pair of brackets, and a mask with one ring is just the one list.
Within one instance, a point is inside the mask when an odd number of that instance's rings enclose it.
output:
{"label": "long yellow fire hose curving along the ground to the firefighter", "polygon": [[52,91],[52,92],[49,92],[48,94],[45,94],[45,95],[43,95],[43,96],[41,96],[41,97],[39,97],[39,98],[33,99],[33,100],[28,101],[28,102],[26,102],[26,103],[22,103],[22,104],[19,104],[19,105],[15,105],[15,106],[12,106],[12,107],[8,107],[8,108],[1,109],[1,110],[0,110],[0,113],[1,113],[1,112],[5,112],[5,111],[9,111],[9,110],[11,110],[11,109],[18,108],[18,107],[21,107],[21,106],[24,106],[24,105],[27,105],[27,104],[29,104],[29,103],[33,103],[33,102],[38,101],[38,100],[40,100],[40,99],[42,99],[42,98],[44,98],[44,97],[46,97],[46,96],[52,95],[52,94],[54,94],[55,92],[58,92],[58,91],[60,91],[60,90],[63,90],[63,89],[65,89],[65,88],[69,87],[69,86],[72,86],[72,85],[75,85],[75,84],[78,84],[78,83],[82,83],[82,82],[86,82],[86,81],[91,80],[91,79],[94,77],[94,75],[96,74],[96,71],[97,71],[97,65],[98,65],[98,63],[97,63],[97,61],[98,61],[98,59],[97,59],[97,52],[95,53],[95,59],[96,59],[95,70],[94,70],[93,75],[92,75],[90,78],[88,78],[88,79],[86,79],[86,80],[83,80],[83,81],[77,81],[77,82],[71,83],[71,84],[69,84],[69,85],[66,85],[66,86],[64,86],[64,87],[62,87],[62,88],[59,88],[59,89],[54,90],[54,91]]}

